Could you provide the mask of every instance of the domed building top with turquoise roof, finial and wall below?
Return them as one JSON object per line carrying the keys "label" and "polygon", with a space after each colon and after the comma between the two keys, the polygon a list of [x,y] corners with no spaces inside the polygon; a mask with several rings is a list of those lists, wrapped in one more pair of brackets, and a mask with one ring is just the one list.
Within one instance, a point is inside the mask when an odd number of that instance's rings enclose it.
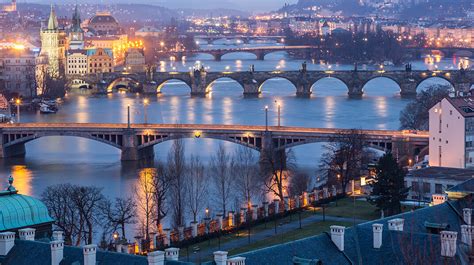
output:
{"label": "domed building top with turquoise roof, finial and wall below", "polygon": [[0,232],[18,232],[20,229],[33,228],[36,230],[35,238],[49,238],[53,219],[44,203],[19,194],[13,186],[12,177],[8,183],[6,190],[0,191]]}

